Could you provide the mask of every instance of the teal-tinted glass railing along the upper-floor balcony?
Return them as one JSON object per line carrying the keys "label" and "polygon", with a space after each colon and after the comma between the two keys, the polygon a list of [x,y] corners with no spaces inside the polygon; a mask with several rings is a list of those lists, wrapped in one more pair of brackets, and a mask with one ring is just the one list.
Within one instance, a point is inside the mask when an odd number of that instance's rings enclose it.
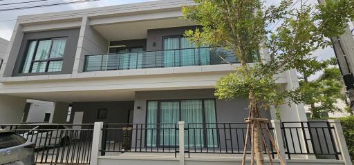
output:
{"label": "teal-tinted glass railing along the upper-floor balcony", "polygon": [[231,50],[222,48],[186,48],[146,52],[87,55],[84,71],[167,68],[237,63]]}

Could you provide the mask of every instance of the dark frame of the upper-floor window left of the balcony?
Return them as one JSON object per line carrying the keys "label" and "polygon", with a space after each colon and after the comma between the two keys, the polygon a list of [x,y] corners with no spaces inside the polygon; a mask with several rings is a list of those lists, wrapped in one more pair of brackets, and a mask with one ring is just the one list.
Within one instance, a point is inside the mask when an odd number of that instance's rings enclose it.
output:
{"label": "dark frame of the upper-floor window left of the balcony", "polygon": [[[44,72],[48,72],[48,68],[49,68],[49,64],[51,61],[63,61],[64,62],[64,55],[63,57],[55,57],[55,58],[50,58],[51,52],[52,52],[52,46],[53,46],[53,41],[55,40],[59,40],[59,39],[65,39],[65,47],[64,47],[64,52],[66,49],[66,42],[68,41],[68,37],[55,37],[55,38],[45,38],[45,39],[31,39],[28,40],[28,44],[27,44],[27,48],[25,51],[25,55],[27,54],[29,48],[30,48],[30,43],[32,41],[37,41],[36,45],[35,45],[35,50],[33,52],[32,55],[32,59],[30,60],[30,68],[28,69],[28,72],[23,72],[24,71],[24,67],[25,67],[25,63],[26,63],[26,58],[27,56],[24,56],[24,59],[21,63],[21,69],[19,70],[19,74],[29,74],[29,73],[40,73],[40,72],[32,72],[32,68],[33,68],[33,64],[37,63],[41,63],[41,62],[46,62],[46,68],[44,70]],[[46,40],[50,40],[50,47],[49,47],[49,55],[46,59],[37,59],[35,60],[36,54],[37,54],[37,49],[38,49],[38,45],[39,45],[39,41],[46,41]],[[63,64],[62,64],[63,67]],[[62,69],[59,71],[53,71],[53,72],[62,72]]]}

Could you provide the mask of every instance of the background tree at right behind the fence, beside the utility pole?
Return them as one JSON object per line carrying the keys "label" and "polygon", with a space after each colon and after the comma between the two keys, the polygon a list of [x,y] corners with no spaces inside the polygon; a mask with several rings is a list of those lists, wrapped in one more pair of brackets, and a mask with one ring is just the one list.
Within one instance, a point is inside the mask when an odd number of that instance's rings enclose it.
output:
{"label": "background tree at right behind the fence, beside the utility pole", "polygon": [[[299,71],[302,72],[299,81],[301,95],[303,95],[304,104],[310,106],[308,110],[312,119],[320,119],[322,113],[342,111],[335,106],[339,99],[346,101],[342,76],[340,70],[333,66],[335,64],[337,64],[337,61],[334,58],[326,61],[314,59],[299,67]],[[308,65],[311,67],[308,67]],[[322,75],[313,81],[309,81],[308,77],[315,75],[315,72],[318,71],[323,71]]]}

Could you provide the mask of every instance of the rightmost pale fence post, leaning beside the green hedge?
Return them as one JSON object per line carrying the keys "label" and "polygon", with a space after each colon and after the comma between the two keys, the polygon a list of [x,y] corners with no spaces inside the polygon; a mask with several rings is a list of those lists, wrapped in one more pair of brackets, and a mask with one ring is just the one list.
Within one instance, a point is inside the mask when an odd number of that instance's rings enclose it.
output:
{"label": "rightmost pale fence post, leaning beside the green hedge", "polygon": [[346,165],[351,165],[351,156],[349,155],[348,148],[346,146],[346,139],[344,138],[342,126],[340,121],[337,119],[328,119],[330,126],[335,128],[335,139],[337,142],[338,149],[342,155],[342,159]]}

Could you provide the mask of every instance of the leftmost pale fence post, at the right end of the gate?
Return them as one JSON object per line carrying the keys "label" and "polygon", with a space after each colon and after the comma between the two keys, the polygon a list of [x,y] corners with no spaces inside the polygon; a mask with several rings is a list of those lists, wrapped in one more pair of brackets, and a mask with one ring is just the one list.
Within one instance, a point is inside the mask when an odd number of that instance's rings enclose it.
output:
{"label": "leftmost pale fence post, at the right end of the gate", "polygon": [[93,126],[92,148],[91,148],[91,165],[97,165],[98,155],[100,153],[102,143],[103,122],[95,122]]}

